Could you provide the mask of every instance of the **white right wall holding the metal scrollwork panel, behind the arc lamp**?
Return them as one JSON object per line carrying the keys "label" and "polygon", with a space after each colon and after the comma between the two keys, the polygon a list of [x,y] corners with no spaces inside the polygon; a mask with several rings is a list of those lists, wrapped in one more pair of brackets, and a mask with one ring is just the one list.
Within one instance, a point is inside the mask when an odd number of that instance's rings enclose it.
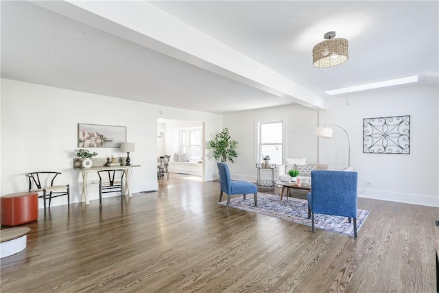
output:
{"label": "white right wall holding the metal scrollwork panel, behind the arc lamp", "polygon": [[[348,102],[348,105],[346,104]],[[320,126],[337,124],[351,139],[351,165],[358,172],[359,196],[439,207],[438,87],[405,86],[349,97],[328,97]],[[410,115],[410,154],[364,154],[363,119]],[[320,139],[320,162],[346,165],[346,134],[333,128]]]}

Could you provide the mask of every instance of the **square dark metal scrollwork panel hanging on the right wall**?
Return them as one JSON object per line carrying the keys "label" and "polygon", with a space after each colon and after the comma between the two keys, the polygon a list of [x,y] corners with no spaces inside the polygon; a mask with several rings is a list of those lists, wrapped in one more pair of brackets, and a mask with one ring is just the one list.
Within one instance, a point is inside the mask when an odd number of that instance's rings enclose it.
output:
{"label": "square dark metal scrollwork panel hanging on the right wall", "polygon": [[363,119],[363,152],[410,154],[410,115]]}

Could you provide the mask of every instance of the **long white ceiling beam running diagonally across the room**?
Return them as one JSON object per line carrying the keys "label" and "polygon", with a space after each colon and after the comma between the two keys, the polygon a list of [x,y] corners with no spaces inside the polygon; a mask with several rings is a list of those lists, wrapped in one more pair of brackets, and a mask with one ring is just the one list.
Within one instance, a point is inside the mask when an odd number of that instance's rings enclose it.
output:
{"label": "long white ceiling beam running diagonally across the room", "polygon": [[325,108],[316,93],[145,1],[32,3],[230,80],[309,108]]}

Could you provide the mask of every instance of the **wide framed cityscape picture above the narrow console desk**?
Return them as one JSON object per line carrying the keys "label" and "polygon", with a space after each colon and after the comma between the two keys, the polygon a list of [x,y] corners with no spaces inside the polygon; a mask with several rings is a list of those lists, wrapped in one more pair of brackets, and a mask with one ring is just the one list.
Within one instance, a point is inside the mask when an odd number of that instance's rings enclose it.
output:
{"label": "wide framed cityscape picture above the narrow console desk", "polygon": [[120,148],[126,127],[78,123],[78,148]]}

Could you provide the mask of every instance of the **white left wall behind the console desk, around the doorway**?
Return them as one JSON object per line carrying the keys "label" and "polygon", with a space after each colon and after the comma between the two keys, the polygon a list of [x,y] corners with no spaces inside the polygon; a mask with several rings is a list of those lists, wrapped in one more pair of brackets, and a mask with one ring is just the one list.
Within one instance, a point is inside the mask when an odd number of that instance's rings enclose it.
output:
{"label": "white left wall behind the console desk, around the doorway", "polygon": [[[158,189],[158,117],[203,121],[209,134],[222,129],[222,115],[2,79],[1,194],[26,191],[27,172],[54,170],[62,172],[59,183],[71,184],[72,202],[79,202],[82,179],[73,169],[78,123],[126,126],[127,140],[136,143],[131,163],[141,165],[132,172],[132,191]],[[118,148],[92,150],[98,157],[123,156]],[[215,161],[204,165],[205,180],[216,176]],[[97,185],[88,191],[91,200],[98,198]],[[66,203],[64,197],[52,201],[53,205]]]}

